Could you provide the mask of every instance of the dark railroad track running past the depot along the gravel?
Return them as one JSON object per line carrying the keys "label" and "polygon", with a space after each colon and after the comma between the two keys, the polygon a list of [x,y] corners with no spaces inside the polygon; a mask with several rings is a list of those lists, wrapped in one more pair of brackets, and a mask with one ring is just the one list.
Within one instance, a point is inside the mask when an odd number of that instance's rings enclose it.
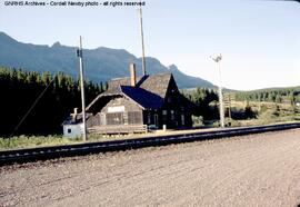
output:
{"label": "dark railroad track running past the depot along the gravel", "polygon": [[0,151],[0,166],[300,128],[300,122]]}

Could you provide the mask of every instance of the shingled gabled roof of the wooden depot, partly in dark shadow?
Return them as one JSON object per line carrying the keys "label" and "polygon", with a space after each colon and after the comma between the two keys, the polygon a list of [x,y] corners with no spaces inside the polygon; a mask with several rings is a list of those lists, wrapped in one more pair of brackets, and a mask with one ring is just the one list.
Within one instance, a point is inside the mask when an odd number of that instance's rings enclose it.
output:
{"label": "shingled gabled roof of the wooden depot, partly in dark shadow", "polygon": [[137,78],[136,87],[130,86],[130,78],[113,79],[108,82],[108,90],[99,95],[87,110],[89,111],[100,98],[110,96],[126,96],[142,108],[159,109],[163,105],[171,79],[171,73],[143,76]]}

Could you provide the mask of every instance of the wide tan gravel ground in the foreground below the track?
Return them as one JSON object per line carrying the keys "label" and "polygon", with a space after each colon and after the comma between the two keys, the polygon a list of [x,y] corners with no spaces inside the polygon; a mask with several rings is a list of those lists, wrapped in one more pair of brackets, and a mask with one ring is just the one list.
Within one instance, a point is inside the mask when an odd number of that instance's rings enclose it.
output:
{"label": "wide tan gravel ground in the foreground below the track", "polygon": [[0,206],[298,206],[300,129],[0,168]]}

